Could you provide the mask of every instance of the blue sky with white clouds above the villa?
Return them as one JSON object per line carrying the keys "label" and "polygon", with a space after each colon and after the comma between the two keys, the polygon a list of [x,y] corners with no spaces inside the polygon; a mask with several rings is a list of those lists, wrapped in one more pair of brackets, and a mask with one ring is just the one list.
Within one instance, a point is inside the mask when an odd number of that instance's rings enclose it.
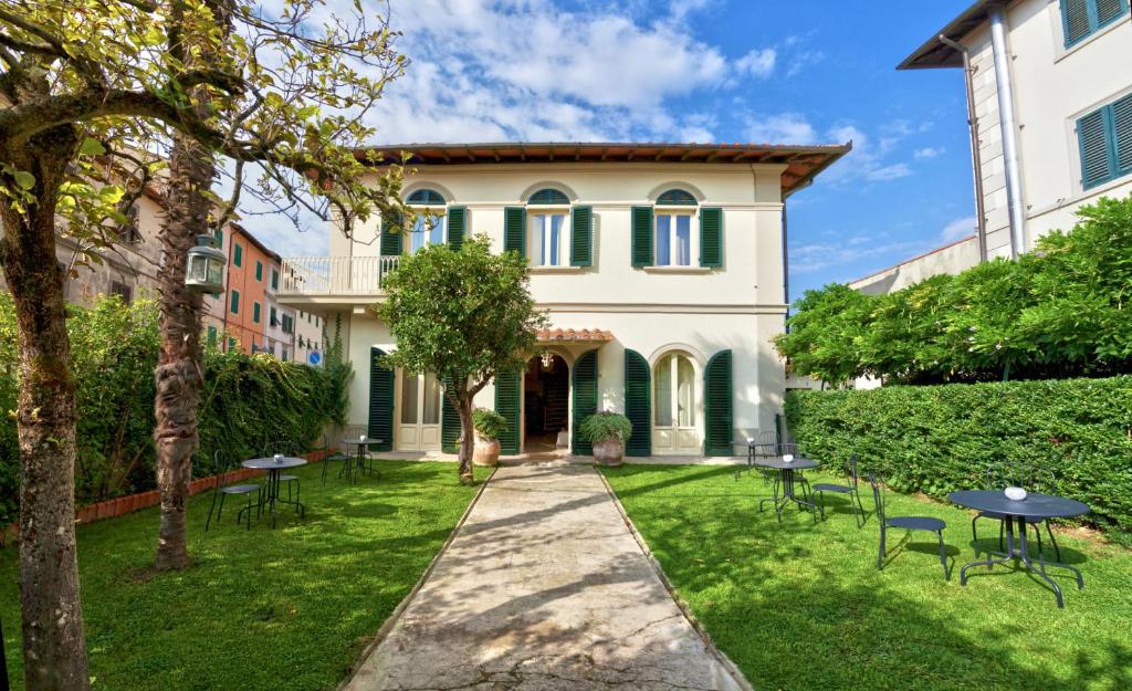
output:
{"label": "blue sky with white clouds above the villa", "polygon": [[[788,202],[797,299],[974,233],[962,72],[895,70],[969,3],[391,0],[410,63],[370,125],[383,144],[852,140]],[[328,250],[326,227],[247,225]]]}

